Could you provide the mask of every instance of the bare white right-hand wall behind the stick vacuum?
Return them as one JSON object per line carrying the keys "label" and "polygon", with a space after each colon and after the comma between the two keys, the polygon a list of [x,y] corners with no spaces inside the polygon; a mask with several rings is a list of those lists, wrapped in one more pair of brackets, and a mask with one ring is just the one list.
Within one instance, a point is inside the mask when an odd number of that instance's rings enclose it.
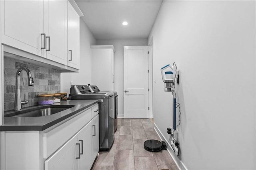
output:
{"label": "bare white right-hand wall behind the stick vacuum", "polygon": [[188,169],[255,169],[255,1],[164,1],[154,34],[154,123],[172,126],[160,68],[180,70],[180,156]]}

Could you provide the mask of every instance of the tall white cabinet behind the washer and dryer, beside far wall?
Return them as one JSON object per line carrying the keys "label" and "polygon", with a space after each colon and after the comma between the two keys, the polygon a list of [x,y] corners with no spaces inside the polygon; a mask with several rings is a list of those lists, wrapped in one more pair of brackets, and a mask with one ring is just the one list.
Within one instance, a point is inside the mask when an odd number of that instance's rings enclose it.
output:
{"label": "tall white cabinet behind the washer and dryer, beside far wall", "polygon": [[91,45],[92,85],[100,90],[115,90],[113,45]]}

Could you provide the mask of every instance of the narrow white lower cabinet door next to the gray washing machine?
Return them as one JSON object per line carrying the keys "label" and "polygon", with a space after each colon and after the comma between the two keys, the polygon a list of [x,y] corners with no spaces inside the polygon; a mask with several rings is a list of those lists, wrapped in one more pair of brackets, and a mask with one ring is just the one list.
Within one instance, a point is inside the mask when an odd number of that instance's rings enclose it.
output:
{"label": "narrow white lower cabinet door next to the gray washing machine", "polygon": [[99,152],[99,115],[92,119],[92,164]]}

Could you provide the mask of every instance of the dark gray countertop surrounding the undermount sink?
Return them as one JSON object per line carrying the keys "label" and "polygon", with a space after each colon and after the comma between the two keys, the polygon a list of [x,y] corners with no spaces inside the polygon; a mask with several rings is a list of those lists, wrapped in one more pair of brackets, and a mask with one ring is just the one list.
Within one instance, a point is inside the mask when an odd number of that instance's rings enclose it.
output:
{"label": "dark gray countertop surrounding the undermount sink", "polygon": [[[45,130],[80,111],[98,103],[99,100],[68,100],[52,105],[75,105],[59,113],[43,117],[4,117],[1,131]],[[38,107],[38,106],[34,106]],[[29,107],[32,108],[32,107]],[[25,109],[29,109],[25,108]],[[24,110],[25,110],[24,109]]]}

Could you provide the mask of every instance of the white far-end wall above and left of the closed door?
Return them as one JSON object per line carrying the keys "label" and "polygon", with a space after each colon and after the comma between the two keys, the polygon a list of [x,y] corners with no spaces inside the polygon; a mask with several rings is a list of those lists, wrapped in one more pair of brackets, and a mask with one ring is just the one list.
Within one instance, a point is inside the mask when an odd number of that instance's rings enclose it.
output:
{"label": "white far-end wall above and left of the closed door", "polygon": [[97,40],[97,45],[114,45],[115,53],[115,80],[118,94],[118,117],[124,117],[124,46],[147,45],[147,39],[130,40]]}

